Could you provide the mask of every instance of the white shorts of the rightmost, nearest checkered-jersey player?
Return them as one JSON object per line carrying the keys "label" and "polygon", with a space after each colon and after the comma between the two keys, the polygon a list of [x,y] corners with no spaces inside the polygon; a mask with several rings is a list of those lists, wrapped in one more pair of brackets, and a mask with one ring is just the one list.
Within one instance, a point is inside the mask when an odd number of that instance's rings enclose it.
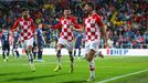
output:
{"label": "white shorts of the rightmost, nearest checkered-jersey player", "polygon": [[97,52],[99,43],[99,40],[85,42],[85,54],[87,54],[91,50]]}

